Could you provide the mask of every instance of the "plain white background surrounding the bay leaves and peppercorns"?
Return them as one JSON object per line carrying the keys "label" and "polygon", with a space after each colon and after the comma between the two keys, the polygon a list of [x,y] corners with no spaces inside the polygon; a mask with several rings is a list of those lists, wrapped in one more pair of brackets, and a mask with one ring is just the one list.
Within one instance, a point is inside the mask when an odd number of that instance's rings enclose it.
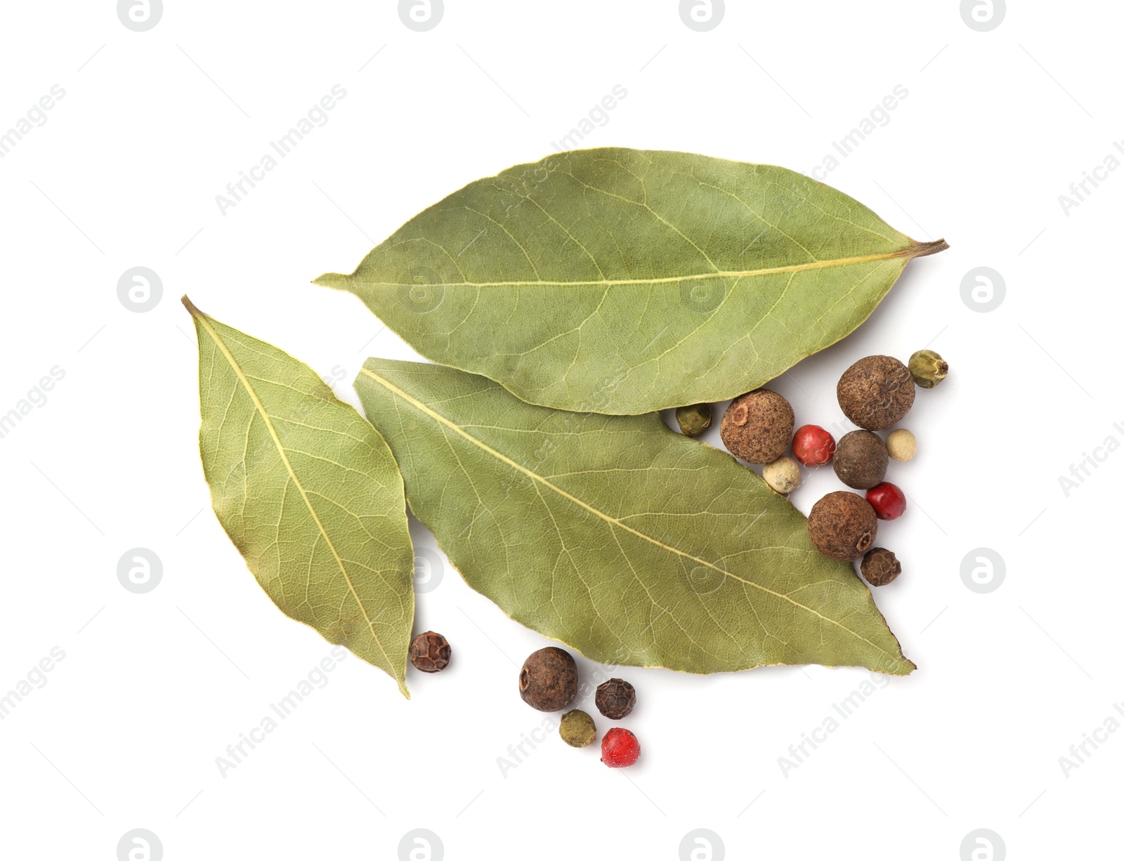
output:
{"label": "plain white background surrounding the bay leaves and peppercorns", "polygon": [[[450,859],[676,859],[708,828],[731,859],[955,861],[989,828],[1005,850],[980,861],[1118,857],[1124,733],[1068,776],[1059,758],[1124,699],[1124,454],[1068,496],[1059,475],[1105,437],[1124,441],[1124,171],[1068,215],[1058,198],[1124,135],[1124,12],[1012,6],[981,33],[952,0],[732,1],[699,33],[669,0],[446,0],[418,33],[393,2],[169,0],[136,33],[112,2],[7,3],[0,129],[52,85],[65,97],[0,158],[0,413],[53,366],[65,377],[0,438],[0,689],[55,646],[65,659],[0,722],[4,854],[114,859],[123,834],[147,828],[169,861],[393,859],[427,828]],[[216,194],[334,84],[347,94],[328,124],[220,214]],[[446,672],[411,670],[407,701],[348,656],[221,776],[216,756],[330,647],[277,610],[210,511],[179,296],[355,402],[366,355],[413,354],[310,279],[351,271],[465,182],[546,155],[615,84],[627,97],[583,145],[805,172],[895,85],[908,90],[819,175],[952,248],[910,263],[854,336],[774,388],[798,423],[842,427],[834,386],[855,359],[931,344],[952,364],[904,423],[921,452],[889,478],[910,506],[880,540],[905,573],[876,599],[918,670],[786,776],[778,758],[868,672],[625,668],[635,768],[551,736],[505,773],[497,759],[541,725],[516,673],[546,641],[446,568],[416,626],[452,642]],[[163,282],[147,312],[118,300],[133,266]],[[961,297],[976,266],[1006,282],[989,312]],[[837,487],[821,471],[792,500],[807,511]],[[117,579],[138,546],[163,563],[144,595]],[[977,547],[1006,567],[986,595],[961,579]]]}

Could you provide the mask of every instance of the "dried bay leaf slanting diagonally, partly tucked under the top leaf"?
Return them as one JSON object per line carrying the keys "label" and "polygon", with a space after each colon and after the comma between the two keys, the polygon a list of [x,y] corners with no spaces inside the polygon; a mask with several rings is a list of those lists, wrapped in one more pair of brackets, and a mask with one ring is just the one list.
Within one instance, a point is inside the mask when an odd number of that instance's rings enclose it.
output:
{"label": "dried bay leaf slanting diagonally, partly tucked under the top leaf", "polygon": [[658,414],[533,406],[452,368],[355,380],[407,501],[469,586],[595,661],[708,673],[914,664],[853,567],[729,454]]}

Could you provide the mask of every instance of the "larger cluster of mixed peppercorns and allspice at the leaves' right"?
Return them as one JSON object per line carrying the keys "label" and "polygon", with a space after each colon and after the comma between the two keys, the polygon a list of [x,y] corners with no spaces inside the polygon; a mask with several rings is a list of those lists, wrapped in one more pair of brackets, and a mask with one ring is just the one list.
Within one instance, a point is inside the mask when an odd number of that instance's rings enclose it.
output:
{"label": "larger cluster of mixed peppercorns and allspice at the leaves' right", "polygon": [[[901,573],[894,553],[876,547],[878,520],[894,520],[906,510],[906,496],[885,481],[892,457],[908,461],[917,452],[917,439],[898,428],[883,441],[876,430],[896,425],[913,407],[915,387],[932,389],[949,373],[949,363],[932,350],[919,350],[905,365],[891,356],[860,359],[840,378],[836,397],[843,414],[860,430],[835,438],[819,425],[804,425],[794,433],[791,405],[769,389],[756,389],[735,398],[722,417],[722,442],[743,461],[763,464],[761,477],[778,493],[790,493],[800,484],[800,464],[832,463],[840,481],[864,490],[865,498],[846,490],[828,493],[812,507],[808,533],[816,550],[830,559],[862,559],[862,575],[871,586],[885,586]],[[679,428],[698,436],[710,426],[710,406],[699,404],[676,410]],[[792,457],[785,455],[789,444]],[[799,461],[799,463],[797,463]]]}

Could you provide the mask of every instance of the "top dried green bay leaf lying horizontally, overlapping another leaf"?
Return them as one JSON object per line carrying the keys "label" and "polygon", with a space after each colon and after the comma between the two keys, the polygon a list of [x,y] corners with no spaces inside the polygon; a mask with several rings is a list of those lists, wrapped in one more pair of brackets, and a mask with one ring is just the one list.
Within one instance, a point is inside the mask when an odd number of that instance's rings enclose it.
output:
{"label": "top dried green bay leaf lying horizontally, overlapping another leaf", "polygon": [[640,414],[768,382],[946,247],[783,167],[577,149],[469,183],[315,283],[525,401]]}

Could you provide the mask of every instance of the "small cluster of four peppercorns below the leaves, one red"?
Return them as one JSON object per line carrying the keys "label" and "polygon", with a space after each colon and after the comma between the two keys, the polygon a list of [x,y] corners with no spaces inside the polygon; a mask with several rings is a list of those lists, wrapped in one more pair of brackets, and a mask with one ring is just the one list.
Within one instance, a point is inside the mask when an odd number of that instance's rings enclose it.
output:
{"label": "small cluster of four peppercorns below the leaves, one red", "polygon": [[[558,646],[532,652],[519,670],[519,696],[540,712],[561,712],[578,696],[578,664],[573,655]],[[609,679],[597,686],[597,710],[610,720],[619,720],[636,705],[636,689],[624,679]],[[593,718],[574,708],[562,715],[559,735],[571,747],[584,747],[597,738]],[[601,738],[601,762],[610,769],[632,765],[640,759],[640,742],[619,726]]]}

